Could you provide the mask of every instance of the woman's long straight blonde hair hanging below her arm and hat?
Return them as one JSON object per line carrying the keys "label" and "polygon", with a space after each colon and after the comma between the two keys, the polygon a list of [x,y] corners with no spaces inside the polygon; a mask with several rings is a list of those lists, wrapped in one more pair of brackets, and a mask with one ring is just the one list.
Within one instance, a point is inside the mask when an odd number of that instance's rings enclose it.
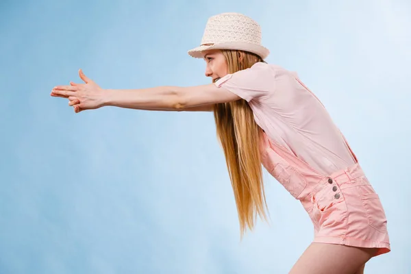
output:
{"label": "woman's long straight blonde hair hanging below her arm and hat", "polygon": [[[248,69],[265,62],[247,51],[222,50],[228,73]],[[240,54],[242,60],[240,62]],[[254,121],[253,111],[244,99],[214,105],[216,134],[225,154],[236,201],[241,237],[247,227],[253,229],[257,214],[266,219],[266,198],[262,182],[260,138],[262,129]]]}

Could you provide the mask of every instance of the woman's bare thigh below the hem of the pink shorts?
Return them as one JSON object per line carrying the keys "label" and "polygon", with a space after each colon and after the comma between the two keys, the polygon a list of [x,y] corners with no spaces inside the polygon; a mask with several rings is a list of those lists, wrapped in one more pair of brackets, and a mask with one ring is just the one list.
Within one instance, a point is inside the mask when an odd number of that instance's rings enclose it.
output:
{"label": "woman's bare thigh below the hem of the pink shorts", "polygon": [[289,274],[354,274],[360,271],[375,251],[376,249],[312,243]]}

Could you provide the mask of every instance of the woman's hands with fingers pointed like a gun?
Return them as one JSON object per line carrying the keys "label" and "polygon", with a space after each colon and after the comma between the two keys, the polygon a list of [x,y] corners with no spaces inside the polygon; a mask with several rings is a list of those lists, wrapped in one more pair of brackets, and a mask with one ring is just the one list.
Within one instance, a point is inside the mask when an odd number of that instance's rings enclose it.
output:
{"label": "woman's hands with fingers pointed like a gun", "polygon": [[69,105],[73,106],[76,113],[101,108],[104,105],[104,90],[86,77],[81,69],[79,76],[86,84],[70,82],[70,86],[55,86],[51,91],[51,96],[68,98]]}

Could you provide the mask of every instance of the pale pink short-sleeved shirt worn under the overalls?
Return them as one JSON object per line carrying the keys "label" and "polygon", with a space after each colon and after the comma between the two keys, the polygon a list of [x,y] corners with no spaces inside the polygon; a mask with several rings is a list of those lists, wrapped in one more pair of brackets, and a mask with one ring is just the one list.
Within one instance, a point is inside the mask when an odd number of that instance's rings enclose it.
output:
{"label": "pale pink short-sleeved shirt worn under the overalls", "polygon": [[297,73],[258,62],[215,83],[245,99],[256,123],[295,156],[324,175],[356,163],[343,135]]}

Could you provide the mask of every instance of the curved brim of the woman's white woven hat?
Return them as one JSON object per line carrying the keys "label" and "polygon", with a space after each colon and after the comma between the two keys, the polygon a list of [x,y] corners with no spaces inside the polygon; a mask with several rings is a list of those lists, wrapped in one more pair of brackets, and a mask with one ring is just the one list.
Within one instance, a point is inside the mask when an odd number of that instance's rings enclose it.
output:
{"label": "curved brim of the woman's white woven hat", "polygon": [[269,49],[262,47],[262,45],[251,44],[247,42],[224,42],[220,44],[214,44],[210,46],[199,46],[194,49],[190,49],[187,53],[193,58],[203,58],[203,51],[208,51],[210,49],[237,49],[241,51],[249,51],[251,53],[257,54],[263,60],[269,55]]}

